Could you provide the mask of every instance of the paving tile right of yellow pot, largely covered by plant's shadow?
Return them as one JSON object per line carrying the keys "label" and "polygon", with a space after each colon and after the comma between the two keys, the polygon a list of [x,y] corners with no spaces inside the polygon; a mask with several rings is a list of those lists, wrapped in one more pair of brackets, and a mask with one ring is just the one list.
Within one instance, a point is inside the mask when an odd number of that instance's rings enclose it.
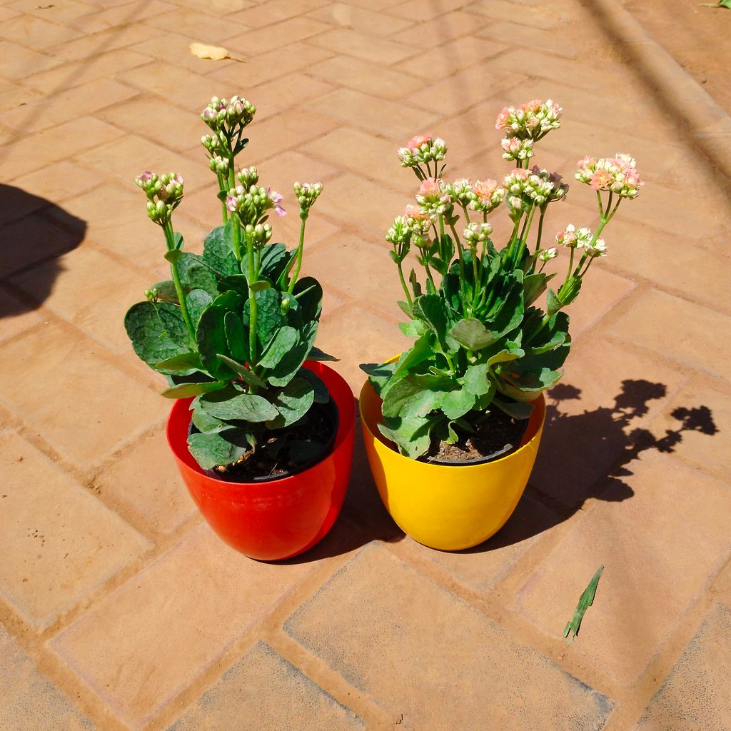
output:
{"label": "paving tile right of yellow pot, largely covered by plant's shadow", "polygon": [[531,485],[569,506],[602,495],[607,478],[629,494],[626,465],[656,450],[646,422],[667,407],[683,376],[597,334],[572,344],[564,369],[547,394]]}

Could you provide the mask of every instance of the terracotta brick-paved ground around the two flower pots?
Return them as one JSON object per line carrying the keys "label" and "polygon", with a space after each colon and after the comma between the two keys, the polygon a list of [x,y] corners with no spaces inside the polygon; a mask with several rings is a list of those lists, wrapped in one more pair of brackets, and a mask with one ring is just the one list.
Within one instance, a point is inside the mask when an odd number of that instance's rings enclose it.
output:
{"label": "terracotta brick-paved ground around the two flower pots", "polygon": [[[731,728],[731,120],[620,3],[13,0],[0,61],[1,729]],[[648,184],[573,307],[542,454],[486,545],[404,538],[360,447],[301,560],[250,561],[194,510],[121,327],[164,273],[132,178],[180,170],[177,227],[200,240],[218,204],[196,113],[233,93],[260,110],[247,164],[325,183],[305,266],[356,393],[357,363],[404,345],[382,235],[413,192],[406,138],[501,175],[496,113],[552,96],[544,164],[637,157]],[[596,221],[579,187],[556,229]]]}

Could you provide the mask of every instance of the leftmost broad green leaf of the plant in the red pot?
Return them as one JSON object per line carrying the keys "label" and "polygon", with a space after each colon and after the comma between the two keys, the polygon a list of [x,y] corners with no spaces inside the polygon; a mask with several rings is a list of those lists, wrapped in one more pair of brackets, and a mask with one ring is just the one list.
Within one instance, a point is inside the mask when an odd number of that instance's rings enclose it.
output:
{"label": "leftmost broad green leaf of the plant in the red pot", "polygon": [[189,352],[188,330],[179,307],[169,302],[138,302],[124,317],[137,355],[151,368],[161,360]]}

